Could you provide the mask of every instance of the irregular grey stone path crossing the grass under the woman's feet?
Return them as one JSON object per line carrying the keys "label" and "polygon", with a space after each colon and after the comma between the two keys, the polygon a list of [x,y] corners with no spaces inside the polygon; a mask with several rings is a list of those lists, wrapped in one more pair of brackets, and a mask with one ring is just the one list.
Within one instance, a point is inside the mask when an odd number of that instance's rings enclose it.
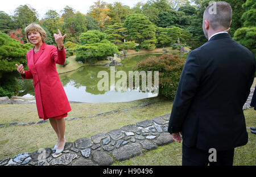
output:
{"label": "irregular grey stone path crossing the grass under the woman's feet", "polygon": [[[243,109],[250,108],[254,88]],[[112,165],[141,155],[143,151],[173,142],[167,132],[170,114],[130,124],[109,132],[84,137],[75,142],[66,142],[63,153],[55,155],[51,148],[39,149],[32,153],[21,153],[13,158],[0,159],[0,166],[94,166]]]}

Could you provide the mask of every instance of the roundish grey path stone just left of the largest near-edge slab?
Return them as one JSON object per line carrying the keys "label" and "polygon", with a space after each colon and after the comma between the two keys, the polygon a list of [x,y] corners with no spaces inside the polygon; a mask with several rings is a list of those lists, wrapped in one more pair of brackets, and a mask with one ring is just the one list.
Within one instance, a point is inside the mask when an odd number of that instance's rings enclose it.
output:
{"label": "roundish grey path stone just left of the largest near-edge slab", "polygon": [[93,151],[92,160],[102,166],[112,165],[114,163],[114,159],[102,151]]}

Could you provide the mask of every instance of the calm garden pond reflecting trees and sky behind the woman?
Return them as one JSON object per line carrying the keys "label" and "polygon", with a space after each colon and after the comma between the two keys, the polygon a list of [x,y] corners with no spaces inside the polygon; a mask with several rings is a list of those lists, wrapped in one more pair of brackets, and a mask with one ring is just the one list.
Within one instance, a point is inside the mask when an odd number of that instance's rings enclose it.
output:
{"label": "calm garden pond reflecting trees and sky behind the woman", "polygon": [[[162,53],[163,54],[163,53]],[[133,56],[128,56],[122,59],[122,66],[115,66],[115,72],[133,71],[133,66],[135,66],[139,61],[142,61],[148,57],[158,57],[162,55],[160,53],[150,53],[150,54],[137,54]],[[164,53],[164,54],[180,54],[176,53]],[[186,55],[186,54],[185,54]],[[184,56],[186,57],[186,56]],[[113,69],[113,68],[112,68]],[[129,102],[133,100],[139,100],[144,98],[151,98],[158,96],[156,92],[141,91],[139,89],[127,91],[113,91],[112,85],[109,84],[109,89],[107,91],[100,91],[97,87],[98,82],[104,78],[98,78],[98,72],[106,71],[109,75],[110,83],[110,67],[106,66],[85,66],[75,71],[71,71],[65,74],[59,74],[60,81],[64,87],[67,94],[68,100],[73,102],[84,102],[84,103],[114,103],[114,102]],[[105,73],[106,73],[105,72]],[[152,78],[154,78],[154,72],[152,72]],[[115,78],[117,82],[120,78]],[[18,96],[24,97],[34,97],[34,87],[32,79],[19,79],[19,84],[22,87],[20,94]],[[127,83],[128,86],[128,83]]]}

